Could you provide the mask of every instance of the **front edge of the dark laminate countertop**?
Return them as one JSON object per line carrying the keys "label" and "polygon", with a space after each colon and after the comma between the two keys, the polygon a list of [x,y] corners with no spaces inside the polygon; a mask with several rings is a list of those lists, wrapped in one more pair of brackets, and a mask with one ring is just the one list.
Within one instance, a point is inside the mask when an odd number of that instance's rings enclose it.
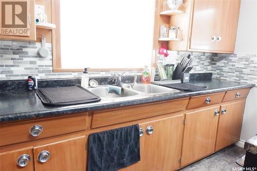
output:
{"label": "front edge of the dark laminate countertop", "polygon": [[99,109],[106,109],[106,108],[113,108],[113,107],[159,102],[159,101],[171,100],[171,99],[188,98],[192,96],[199,96],[204,94],[224,92],[224,91],[230,91],[230,90],[242,89],[242,88],[250,88],[254,86],[255,84],[244,84],[244,85],[237,85],[237,86],[231,86],[226,88],[216,88],[216,89],[196,91],[196,92],[179,91],[177,93],[172,93],[172,94],[167,93],[164,95],[151,94],[149,96],[138,97],[138,99],[126,100],[126,101],[118,101],[118,102],[101,101],[101,103],[99,102],[99,103],[64,106],[64,107],[52,108],[52,109],[49,108],[47,110],[35,110],[35,111],[28,111],[28,112],[21,112],[21,113],[11,113],[7,115],[0,115],[0,123],[22,121],[22,120],[29,120],[29,119],[35,119],[35,118],[39,119],[39,118],[43,118],[43,117],[45,118],[45,117],[51,117],[51,116],[69,115],[76,112],[86,112],[89,110],[99,110]]}

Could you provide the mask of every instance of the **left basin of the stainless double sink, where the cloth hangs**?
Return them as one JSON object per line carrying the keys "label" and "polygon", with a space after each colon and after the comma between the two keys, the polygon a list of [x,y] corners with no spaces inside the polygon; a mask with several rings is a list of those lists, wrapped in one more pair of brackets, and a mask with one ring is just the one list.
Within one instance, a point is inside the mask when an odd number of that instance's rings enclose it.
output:
{"label": "left basin of the stainless double sink, where the cloth hangs", "polygon": [[136,96],[139,94],[138,92],[127,88],[122,88],[120,95],[115,93],[108,93],[107,86],[89,88],[88,90],[101,98],[124,98],[124,97]]}

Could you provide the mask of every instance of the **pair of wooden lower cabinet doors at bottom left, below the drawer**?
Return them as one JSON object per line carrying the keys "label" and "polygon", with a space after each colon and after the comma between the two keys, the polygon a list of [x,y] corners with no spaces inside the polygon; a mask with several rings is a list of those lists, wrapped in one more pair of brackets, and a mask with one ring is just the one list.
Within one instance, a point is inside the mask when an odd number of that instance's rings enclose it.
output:
{"label": "pair of wooden lower cabinet doors at bottom left, below the drawer", "polygon": [[[11,147],[7,150],[0,149],[0,170],[85,170],[86,169],[86,150],[85,136],[69,138],[63,141],[48,142],[44,145],[33,146],[25,144],[20,149]],[[48,151],[49,158],[43,153]],[[42,154],[42,155],[40,155]],[[23,167],[17,165],[17,161],[21,156],[26,155],[28,164]],[[39,157],[41,157],[39,159]],[[41,162],[41,161],[45,162]],[[25,161],[25,160],[24,160]]]}

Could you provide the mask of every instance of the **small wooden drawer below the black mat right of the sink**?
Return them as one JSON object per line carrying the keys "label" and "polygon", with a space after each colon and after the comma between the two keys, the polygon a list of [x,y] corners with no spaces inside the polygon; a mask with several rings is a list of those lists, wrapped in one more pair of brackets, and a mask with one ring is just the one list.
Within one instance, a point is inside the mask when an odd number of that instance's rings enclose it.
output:
{"label": "small wooden drawer below the black mat right of the sink", "polygon": [[207,94],[203,96],[195,96],[192,97],[188,104],[188,109],[192,109],[195,107],[212,105],[215,103],[221,103],[224,97],[225,92],[219,92],[215,94]]}

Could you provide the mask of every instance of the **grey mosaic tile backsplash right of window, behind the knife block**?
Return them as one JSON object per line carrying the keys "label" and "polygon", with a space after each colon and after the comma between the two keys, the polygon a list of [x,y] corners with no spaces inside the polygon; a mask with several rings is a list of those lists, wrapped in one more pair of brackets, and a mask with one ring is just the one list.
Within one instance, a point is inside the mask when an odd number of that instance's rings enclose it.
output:
{"label": "grey mosaic tile backsplash right of window, behind the knife block", "polygon": [[194,56],[193,69],[190,73],[212,72],[212,78],[257,84],[256,54],[226,54],[189,51],[168,51],[165,58],[158,56],[157,62],[177,64],[184,53]]}

